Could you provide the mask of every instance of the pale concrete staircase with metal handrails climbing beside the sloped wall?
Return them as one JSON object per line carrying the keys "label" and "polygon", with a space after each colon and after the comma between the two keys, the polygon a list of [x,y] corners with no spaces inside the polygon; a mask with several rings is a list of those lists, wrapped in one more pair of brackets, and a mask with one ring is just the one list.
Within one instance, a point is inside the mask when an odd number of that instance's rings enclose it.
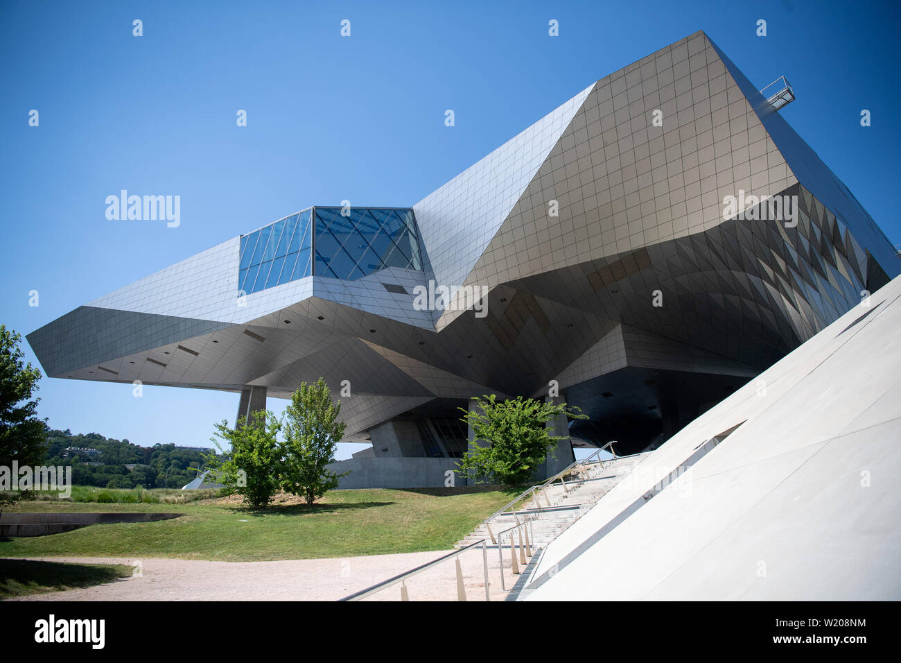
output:
{"label": "pale concrete staircase with metal handrails climbing beside the sloped wall", "polygon": [[[652,452],[577,465],[564,476],[565,488],[558,480],[533,492],[528,502],[516,506],[516,511],[496,513],[460,539],[454,548],[464,548],[481,539],[487,540],[488,548],[497,548],[496,542],[493,543],[491,540],[492,534],[496,540],[502,531],[526,520],[532,521],[530,526],[530,537],[533,537],[530,541],[532,548],[544,548],[556,539],[560,532],[581,518],[595,502],[614,485],[620,483],[632,472],[635,465],[641,463],[650,453]],[[491,529],[490,533],[488,528]],[[518,539],[516,541],[518,545]],[[505,535],[502,545],[509,548],[509,533]]]}

